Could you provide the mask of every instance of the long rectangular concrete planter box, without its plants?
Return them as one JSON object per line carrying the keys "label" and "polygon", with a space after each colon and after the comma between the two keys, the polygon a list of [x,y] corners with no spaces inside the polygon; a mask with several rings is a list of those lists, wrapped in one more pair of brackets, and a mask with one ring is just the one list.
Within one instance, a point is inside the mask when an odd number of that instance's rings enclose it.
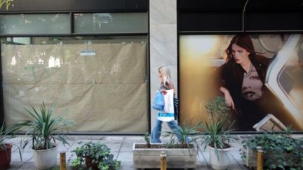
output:
{"label": "long rectangular concrete planter box, without its plants", "polygon": [[157,148],[138,148],[145,143],[133,144],[133,164],[137,169],[159,168],[161,151],[166,151],[168,168],[196,168],[196,148],[161,148],[163,143],[154,143]]}

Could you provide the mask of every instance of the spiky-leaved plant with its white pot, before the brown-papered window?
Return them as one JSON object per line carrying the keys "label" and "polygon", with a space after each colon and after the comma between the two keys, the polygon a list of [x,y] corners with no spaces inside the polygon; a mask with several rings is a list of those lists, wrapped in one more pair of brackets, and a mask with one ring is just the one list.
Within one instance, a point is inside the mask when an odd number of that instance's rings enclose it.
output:
{"label": "spiky-leaved plant with its white pot, before the brown-papered window", "polygon": [[13,132],[22,130],[25,136],[30,135],[31,138],[22,141],[23,148],[31,141],[31,148],[34,156],[34,166],[36,169],[50,169],[57,163],[57,145],[56,141],[69,144],[65,138],[64,132],[68,132],[67,127],[72,125],[72,121],[66,120],[66,114],[60,114],[55,117],[53,112],[55,104],[49,108],[44,102],[37,110],[32,106],[32,110],[25,108],[29,115],[28,120],[12,125]]}

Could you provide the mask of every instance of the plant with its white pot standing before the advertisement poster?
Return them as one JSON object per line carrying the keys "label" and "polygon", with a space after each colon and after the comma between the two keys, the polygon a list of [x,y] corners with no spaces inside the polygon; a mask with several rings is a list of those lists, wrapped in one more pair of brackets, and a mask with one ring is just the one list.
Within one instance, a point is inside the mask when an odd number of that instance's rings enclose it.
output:
{"label": "plant with its white pot standing before the advertisement poster", "polygon": [[216,97],[208,101],[206,110],[210,114],[210,120],[203,124],[203,145],[208,147],[210,153],[210,165],[213,169],[227,169],[230,164],[229,150],[231,140],[236,137],[229,133],[232,130],[234,121],[230,120],[229,108],[223,97]]}

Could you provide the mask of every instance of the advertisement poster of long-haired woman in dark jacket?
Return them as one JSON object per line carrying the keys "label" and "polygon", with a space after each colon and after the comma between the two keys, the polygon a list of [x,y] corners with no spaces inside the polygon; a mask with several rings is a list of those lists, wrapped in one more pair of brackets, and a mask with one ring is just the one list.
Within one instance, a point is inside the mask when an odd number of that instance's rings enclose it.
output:
{"label": "advertisement poster of long-haired woman in dark jacket", "polygon": [[181,35],[180,122],[208,121],[222,96],[234,131],[303,131],[302,34]]}

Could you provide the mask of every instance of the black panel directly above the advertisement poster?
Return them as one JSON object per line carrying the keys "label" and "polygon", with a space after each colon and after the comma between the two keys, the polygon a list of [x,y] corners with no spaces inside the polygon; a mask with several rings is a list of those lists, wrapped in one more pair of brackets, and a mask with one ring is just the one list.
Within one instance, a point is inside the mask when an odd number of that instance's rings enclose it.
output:
{"label": "black panel directly above the advertisement poster", "polygon": [[303,30],[303,0],[178,0],[177,2],[180,33]]}

